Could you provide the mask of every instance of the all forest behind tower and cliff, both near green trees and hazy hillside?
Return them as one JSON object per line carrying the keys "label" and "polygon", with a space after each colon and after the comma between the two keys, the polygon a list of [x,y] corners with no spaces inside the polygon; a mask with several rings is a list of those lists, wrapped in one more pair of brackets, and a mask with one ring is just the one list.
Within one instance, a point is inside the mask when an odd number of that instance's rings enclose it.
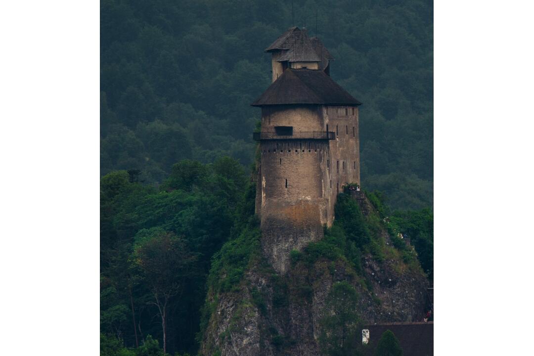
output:
{"label": "all forest behind tower and cliff, both near green trees and hazy hillside", "polygon": [[363,102],[362,187],[433,278],[432,6],[101,0],[101,355],[196,354],[208,286],[241,279],[259,238],[250,103],[293,24]]}

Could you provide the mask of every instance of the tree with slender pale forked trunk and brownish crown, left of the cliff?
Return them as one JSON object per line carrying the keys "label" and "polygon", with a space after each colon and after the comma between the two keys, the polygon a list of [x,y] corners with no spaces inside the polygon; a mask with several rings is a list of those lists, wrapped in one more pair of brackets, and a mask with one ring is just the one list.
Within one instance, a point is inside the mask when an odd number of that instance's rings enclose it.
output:
{"label": "tree with slender pale forked trunk and brownish crown, left of the cliff", "polygon": [[163,354],[167,351],[167,311],[171,299],[183,292],[185,280],[191,276],[195,257],[174,233],[152,228],[136,235],[135,264],[152,287],[163,331]]}

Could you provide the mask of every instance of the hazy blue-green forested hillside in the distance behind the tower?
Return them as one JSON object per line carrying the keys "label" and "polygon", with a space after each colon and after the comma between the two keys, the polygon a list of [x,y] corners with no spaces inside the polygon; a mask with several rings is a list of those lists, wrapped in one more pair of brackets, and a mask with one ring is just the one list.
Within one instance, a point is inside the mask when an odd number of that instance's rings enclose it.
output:
{"label": "hazy blue-green forested hillside in the distance behind the tower", "polygon": [[[433,5],[422,0],[102,0],[101,174],[161,183],[182,159],[253,162],[263,49],[307,25],[360,107],[362,184],[433,204]],[[317,14],[317,17],[316,17]],[[294,18],[294,21],[292,20]],[[317,18],[317,21],[316,21]]]}

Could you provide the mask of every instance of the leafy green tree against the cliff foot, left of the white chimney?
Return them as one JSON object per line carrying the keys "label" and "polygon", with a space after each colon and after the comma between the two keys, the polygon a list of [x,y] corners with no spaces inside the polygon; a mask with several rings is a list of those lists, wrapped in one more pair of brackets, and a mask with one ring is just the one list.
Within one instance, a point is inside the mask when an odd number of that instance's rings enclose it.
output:
{"label": "leafy green tree against the cliff foot, left of the white chimney", "polygon": [[324,317],[319,324],[319,344],[330,356],[358,355],[358,331],[361,320],[356,310],[358,295],[348,282],[337,282],[328,294]]}

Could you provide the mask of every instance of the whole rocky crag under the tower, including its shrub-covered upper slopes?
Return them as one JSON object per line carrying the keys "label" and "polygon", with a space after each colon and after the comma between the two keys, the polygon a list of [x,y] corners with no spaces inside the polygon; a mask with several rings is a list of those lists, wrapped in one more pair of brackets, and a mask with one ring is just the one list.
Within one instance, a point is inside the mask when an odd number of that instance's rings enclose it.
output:
{"label": "whole rocky crag under the tower, including its shrub-covered upper slopes", "polygon": [[[321,354],[320,320],[329,291],[340,281],[356,290],[357,311],[366,323],[422,320],[428,281],[415,251],[395,241],[387,219],[364,195],[349,196],[349,214],[360,215],[365,226],[344,221],[342,228],[325,230],[323,240],[292,252],[284,275],[256,254],[232,288],[210,287],[200,354]],[[368,231],[371,239],[357,246],[350,238],[354,231]],[[226,277],[224,268],[219,272]]]}

